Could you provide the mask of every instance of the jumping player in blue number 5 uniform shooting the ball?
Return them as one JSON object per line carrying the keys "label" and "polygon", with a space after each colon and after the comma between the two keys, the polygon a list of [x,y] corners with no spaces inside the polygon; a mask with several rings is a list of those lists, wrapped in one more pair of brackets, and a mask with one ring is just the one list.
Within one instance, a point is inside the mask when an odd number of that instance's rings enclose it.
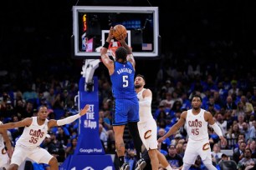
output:
{"label": "jumping player in blue number 5 uniform shooting the ball", "polygon": [[118,40],[122,47],[118,47],[115,50],[115,61],[110,59],[107,50],[111,39],[113,39],[112,31],[113,28],[110,28],[106,42],[100,50],[100,56],[105,67],[109,70],[112,93],[115,99],[112,122],[115,133],[115,151],[120,161],[120,169],[128,170],[130,165],[125,163],[125,143],[123,139],[125,124],[127,123],[136,148],[139,166],[146,163],[140,159],[142,142],[137,128],[137,122],[139,122],[139,102],[134,87],[136,62],[130,47],[125,42],[125,37],[120,37]]}

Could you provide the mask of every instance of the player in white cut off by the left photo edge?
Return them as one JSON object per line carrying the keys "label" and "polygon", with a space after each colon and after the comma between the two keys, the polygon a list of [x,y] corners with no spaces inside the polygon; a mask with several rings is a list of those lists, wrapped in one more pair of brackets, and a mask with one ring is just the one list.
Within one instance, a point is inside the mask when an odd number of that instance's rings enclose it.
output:
{"label": "player in white cut off by the left photo edge", "polygon": [[[3,122],[0,121],[0,125]],[[5,145],[4,145],[5,143]],[[7,150],[5,149],[7,148]],[[8,168],[13,155],[13,148],[6,129],[0,128],[0,168]]]}

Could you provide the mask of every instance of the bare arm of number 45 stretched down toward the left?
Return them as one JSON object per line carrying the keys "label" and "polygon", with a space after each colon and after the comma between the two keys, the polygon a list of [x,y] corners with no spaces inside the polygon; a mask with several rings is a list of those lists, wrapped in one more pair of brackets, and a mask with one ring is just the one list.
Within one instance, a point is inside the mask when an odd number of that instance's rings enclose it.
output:
{"label": "bare arm of number 45 stretched down toward the left", "polygon": [[172,128],[169,129],[169,131],[162,136],[161,138],[159,138],[157,140],[158,143],[162,143],[166,138],[170,137],[172,134],[176,133],[179,128],[181,128],[185,122],[186,122],[186,117],[187,117],[187,111],[182,112],[182,115],[180,117],[180,119],[178,120],[177,123],[175,123]]}

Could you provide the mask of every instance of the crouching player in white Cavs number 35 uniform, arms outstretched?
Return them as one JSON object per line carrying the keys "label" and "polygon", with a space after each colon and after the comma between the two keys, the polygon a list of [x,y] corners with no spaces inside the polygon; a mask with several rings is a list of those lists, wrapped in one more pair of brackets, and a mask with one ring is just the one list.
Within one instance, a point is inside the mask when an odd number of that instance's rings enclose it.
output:
{"label": "crouching player in white Cavs number 35 uniform, arms outstretched", "polygon": [[85,107],[74,116],[66,117],[61,120],[48,120],[48,109],[45,106],[41,106],[38,108],[37,117],[27,117],[19,122],[9,122],[0,125],[0,130],[25,127],[23,134],[18,138],[16,143],[9,169],[17,170],[18,166],[23,163],[25,158],[30,158],[36,163],[49,164],[51,170],[58,170],[57,158],[54,158],[54,156],[44,148],[40,148],[39,145],[44,141],[50,128],[74,122],[88,110],[89,105],[85,105]]}

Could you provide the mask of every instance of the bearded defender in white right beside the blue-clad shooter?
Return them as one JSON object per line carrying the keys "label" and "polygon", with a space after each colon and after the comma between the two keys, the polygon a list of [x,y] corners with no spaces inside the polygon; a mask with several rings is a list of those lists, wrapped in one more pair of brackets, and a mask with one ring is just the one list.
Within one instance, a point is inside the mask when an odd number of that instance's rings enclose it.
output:
{"label": "bearded defender in white right beside the blue-clad shooter", "polygon": [[165,156],[161,154],[157,149],[157,127],[156,121],[152,117],[151,112],[152,92],[150,89],[144,88],[145,83],[146,82],[144,76],[141,74],[136,75],[135,87],[137,97],[139,99],[140,115],[138,129],[141,136],[141,141],[147,149],[149,157],[151,158],[152,170],[157,170],[159,168],[159,162],[165,169],[170,170],[172,168],[167,162]]}

